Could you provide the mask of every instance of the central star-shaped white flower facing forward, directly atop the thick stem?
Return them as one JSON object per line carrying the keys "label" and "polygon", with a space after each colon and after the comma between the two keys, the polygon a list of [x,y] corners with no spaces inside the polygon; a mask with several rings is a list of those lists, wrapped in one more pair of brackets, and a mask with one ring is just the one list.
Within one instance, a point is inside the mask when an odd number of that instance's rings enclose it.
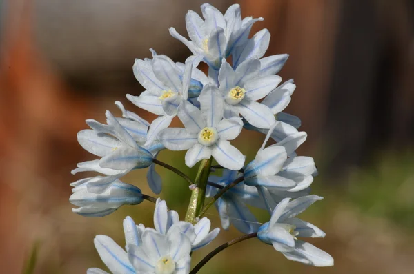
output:
{"label": "central star-shaped white flower facing forward, directly atop the thick stem", "polygon": [[222,119],[223,98],[218,88],[208,84],[198,98],[201,110],[184,101],[178,108],[178,117],[186,128],[166,128],[159,133],[159,141],[170,150],[188,150],[186,165],[194,166],[201,159],[213,156],[221,165],[239,170],[244,155],[230,145],[242,130],[242,119]]}

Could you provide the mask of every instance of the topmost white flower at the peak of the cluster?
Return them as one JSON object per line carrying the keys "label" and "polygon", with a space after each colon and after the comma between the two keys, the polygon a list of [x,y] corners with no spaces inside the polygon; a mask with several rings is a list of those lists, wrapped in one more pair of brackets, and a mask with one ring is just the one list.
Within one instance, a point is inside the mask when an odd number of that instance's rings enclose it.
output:
{"label": "topmost white flower at the peak of the cluster", "polygon": [[263,18],[242,20],[240,6],[230,6],[226,14],[208,3],[201,5],[204,20],[196,12],[189,10],[186,14],[186,28],[191,41],[170,28],[170,34],[193,52],[194,55],[204,55],[204,62],[213,70],[219,70],[220,61],[228,57],[236,48],[248,41],[250,28],[253,23]]}

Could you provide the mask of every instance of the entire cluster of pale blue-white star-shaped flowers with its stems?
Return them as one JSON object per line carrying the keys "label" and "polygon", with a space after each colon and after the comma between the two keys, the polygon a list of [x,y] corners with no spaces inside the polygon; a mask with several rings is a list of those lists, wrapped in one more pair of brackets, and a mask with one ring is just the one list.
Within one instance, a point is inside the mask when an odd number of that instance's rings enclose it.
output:
{"label": "entire cluster of pale blue-white star-shaped flowers with its stems", "polygon": [[[152,59],[136,59],[132,67],[146,90],[126,98],[157,115],[156,119],[148,123],[117,101],[122,117],[107,111],[106,124],[86,120],[90,129],[78,133],[79,144],[101,158],[79,163],[72,173],[99,175],[71,184],[70,202],[79,206],[73,211],[102,217],[124,204],[140,204],[144,199],[155,202],[155,229],[136,226],[130,217],[124,220],[125,250],[110,237],[95,237],[97,251],[112,273],[190,273],[191,252],[209,244],[219,233],[219,228],[210,232],[210,221],[203,217],[213,204],[222,228],[233,225],[246,234],[240,240],[257,237],[289,260],[333,265],[328,253],[297,239],[324,237],[325,233],[296,218],[322,197],[310,195],[317,175],[313,158],[295,153],[307,135],[297,130],[299,118],[283,112],[296,88],[293,80],[281,84],[277,75],[288,55],[264,57],[270,41],[268,30],[250,37],[253,23],[263,18],[242,19],[237,4],[222,14],[206,3],[201,12],[202,17],[191,10],[186,14],[190,39],[170,28],[172,37],[193,53],[185,63],[175,63],[151,49]],[[207,75],[197,68],[201,62],[208,66]],[[179,119],[184,128],[170,128],[173,119]],[[266,136],[250,162],[231,143],[243,129]],[[275,144],[266,147],[269,139]],[[201,162],[194,181],[157,160],[165,149],[186,150],[189,167]],[[213,159],[217,165],[212,166]],[[185,221],[180,221],[165,201],[119,180],[132,170],[148,168],[148,185],[159,194],[157,164],[190,182],[192,195]],[[215,175],[221,170],[221,176]],[[205,205],[204,198],[210,198]],[[267,210],[269,222],[257,222],[249,206]],[[210,260],[206,258],[191,273]],[[88,273],[106,272],[90,268]]]}

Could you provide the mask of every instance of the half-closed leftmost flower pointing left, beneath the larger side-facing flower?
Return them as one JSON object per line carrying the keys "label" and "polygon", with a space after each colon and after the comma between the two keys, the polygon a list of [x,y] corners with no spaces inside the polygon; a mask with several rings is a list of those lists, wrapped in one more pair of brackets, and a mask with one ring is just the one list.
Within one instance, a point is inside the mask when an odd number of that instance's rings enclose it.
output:
{"label": "half-closed leftmost flower pointing left, beneath the larger side-facing flower", "polygon": [[73,188],[69,198],[69,202],[79,206],[72,208],[72,211],[85,217],[103,217],[124,204],[140,204],[143,201],[139,188],[119,180],[115,180],[101,194],[90,193],[87,184],[88,181]]}

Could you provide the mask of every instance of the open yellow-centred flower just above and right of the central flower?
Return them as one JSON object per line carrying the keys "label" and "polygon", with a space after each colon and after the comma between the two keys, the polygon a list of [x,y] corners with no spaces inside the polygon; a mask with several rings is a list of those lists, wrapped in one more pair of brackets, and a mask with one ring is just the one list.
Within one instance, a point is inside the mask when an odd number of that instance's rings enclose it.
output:
{"label": "open yellow-centred flower just above and right of the central flower", "polygon": [[259,75],[259,59],[248,59],[233,68],[223,60],[219,71],[219,88],[224,96],[224,118],[239,116],[257,128],[270,128],[275,116],[262,99],[282,80],[277,75]]}

